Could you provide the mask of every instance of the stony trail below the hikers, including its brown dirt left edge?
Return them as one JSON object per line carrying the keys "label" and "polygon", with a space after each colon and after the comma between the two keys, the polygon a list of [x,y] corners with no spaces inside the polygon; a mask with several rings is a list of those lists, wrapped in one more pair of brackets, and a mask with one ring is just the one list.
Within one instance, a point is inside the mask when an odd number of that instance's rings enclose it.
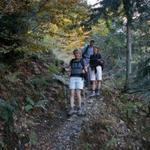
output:
{"label": "stony trail below the hikers, including its brown dirt left edge", "polygon": [[39,143],[33,148],[35,150],[73,150],[77,149],[77,143],[81,129],[93,117],[99,116],[101,107],[104,103],[103,98],[86,98],[84,109],[86,116],[73,115],[68,117],[50,131],[43,128]]}

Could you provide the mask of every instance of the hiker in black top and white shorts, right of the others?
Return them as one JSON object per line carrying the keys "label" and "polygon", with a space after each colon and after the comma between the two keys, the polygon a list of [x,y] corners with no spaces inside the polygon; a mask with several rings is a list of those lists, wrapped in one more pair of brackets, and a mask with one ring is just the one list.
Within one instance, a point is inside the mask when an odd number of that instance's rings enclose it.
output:
{"label": "hiker in black top and white shorts, right of the others", "polygon": [[101,58],[99,50],[98,47],[94,47],[94,54],[90,56],[90,80],[92,82],[92,92],[90,96],[100,95],[104,61]]}

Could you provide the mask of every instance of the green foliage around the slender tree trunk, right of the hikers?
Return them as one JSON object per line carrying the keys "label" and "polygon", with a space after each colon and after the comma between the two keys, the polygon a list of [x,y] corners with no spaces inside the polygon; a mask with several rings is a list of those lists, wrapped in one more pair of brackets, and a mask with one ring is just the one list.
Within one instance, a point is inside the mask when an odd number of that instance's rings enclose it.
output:
{"label": "green foliage around the slender tree trunk, right of the hikers", "polygon": [[[138,72],[140,72],[139,75],[147,74],[149,72],[148,70],[150,70],[148,65],[143,63],[148,59],[147,57],[150,51],[148,42],[150,35],[148,19],[148,14],[150,12],[149,5],[142,0],[102,0],[99,3],[100,7],[97,6],[97,8],[92,9],[91,18],[87,23],[88,25],[92,25],[93,22],[97,22],[98,24],[99,20],[106,20],[106,25],[107,28],[109,28],[109,33],[105,36],[102,36],[98,35],[95,32],[92,36],[96,41],[98,41],[98,45],[100,45],[100,47],[105,50],[105,52],[102,51],[102,53],[104,53],[106,57],[106,60],[108,62],[107,65],[109,65],[109,67],[112,66],[109,69],[122,69],[122,74],[125,74],[125,72],[127,73],[125,80],[127,81],[127,85],[129,81],[128,76],[130,76],[130,79],[133,79],[136,76],[137,70],[139,70]],[[101,25],[98,26],[101,27]],[[133,46],[131,48],[133,52],[132,59],[126,57],[126,48],[128,47],[127,43],[131,44],[131,42],[128,42],[129,40],[127,40],[126,36],[126,33],[128,34],[128,32],[126,32],[127,30],[125,30],[127,26],[133,30]],[[101,29],[105,31],[104,26],[101,27]],[[128,49],[128,52],[131,49]],[[141,61],[141,58],[143,58],[143,61]],[[144,66],[142,66],[141,68],[137,67],[140,62],[144,64]],[[130,64],[135,65],[135,67],[133,66],[133,74],[128,72]],[[125,66],[128,69],[126,69]],[[115,71],[115,74],[116,72],[118,71]],[[144,78],[144,80],[142,81],[143,84],[140,84],[144,76],[139,77],[139,84],[136,83],[134,85],[131,85],[131,88],[136,87],[140,89],[142,86],[148,87],[149,79],[147,77]],[[124,78],[124,76],[122,76],[122,78]]]}

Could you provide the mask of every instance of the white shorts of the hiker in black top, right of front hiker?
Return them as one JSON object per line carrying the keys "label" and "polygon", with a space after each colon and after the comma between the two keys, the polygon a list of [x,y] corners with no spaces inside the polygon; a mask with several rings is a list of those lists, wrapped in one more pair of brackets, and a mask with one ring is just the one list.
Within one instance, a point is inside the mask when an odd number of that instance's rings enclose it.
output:
{"label": "white shorts of the hiker in black top, right of front hiker", "polygon": [[91,81],[102,80],[102,67],[101,66],[96,67],[96,73],[95,73],[95,70],[92,70],[90,68],[90,80]]}

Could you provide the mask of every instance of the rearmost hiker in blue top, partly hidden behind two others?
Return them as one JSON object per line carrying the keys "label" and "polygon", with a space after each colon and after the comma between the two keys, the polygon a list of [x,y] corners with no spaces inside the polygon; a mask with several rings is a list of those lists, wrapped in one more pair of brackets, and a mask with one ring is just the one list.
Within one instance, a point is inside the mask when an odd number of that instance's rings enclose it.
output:
{"label": "rearmost hiker in blue top, partly hidden behind two others", "polygon": [[84,59],[87,67],[87,74],[85,74],[85,83],[86,85],[89,84],[90,80],[90,74],[89,74],[89,62],[90,62],[90,56],[93,55],[93,48],[94,48],[94,40],[90,41],[90,44],[85,46],[82,49],[82,58]]}

